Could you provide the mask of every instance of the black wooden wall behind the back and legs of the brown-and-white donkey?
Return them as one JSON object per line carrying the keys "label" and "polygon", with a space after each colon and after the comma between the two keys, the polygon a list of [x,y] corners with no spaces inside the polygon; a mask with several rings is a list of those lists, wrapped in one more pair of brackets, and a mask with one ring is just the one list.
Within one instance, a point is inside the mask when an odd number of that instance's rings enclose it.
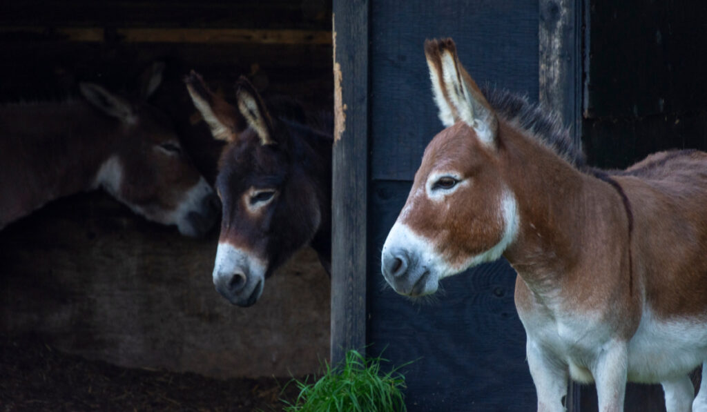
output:
{"label": "black wooden wall behind the back and legs of the brown-and-white donkey", "polygon": [[[590,164],[624,168],[655,151],[707,150],[707,3],[586,0],[585,13]],[[581,410],[596,411],[594,387],[580,391]],[[629,384],[626,411],[665,411],[660,385]]]}

